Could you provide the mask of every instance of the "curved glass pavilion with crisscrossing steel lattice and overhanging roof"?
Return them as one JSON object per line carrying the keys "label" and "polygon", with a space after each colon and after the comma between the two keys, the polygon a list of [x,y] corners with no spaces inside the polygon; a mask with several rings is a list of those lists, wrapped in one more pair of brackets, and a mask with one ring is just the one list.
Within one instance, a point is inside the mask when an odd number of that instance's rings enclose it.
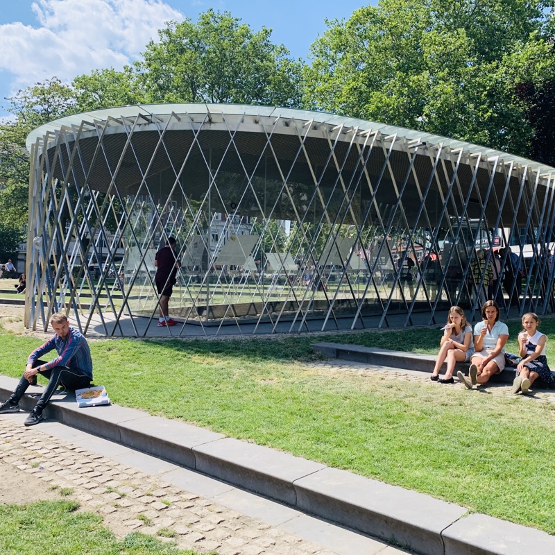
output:
{"label": "curved glass pavilion with crisscrossing steel lattice and overhanging roof", "polygon": [[[537,162],[204,104],[76,114],[28,148],[33,329],[56,311],[85,334],[209,336],[429,325],[452,305],[472,321],[486,298],[504,317],[554,309],[555,170]],[[153,259],[170,236],[180,325],[158,329]]]}

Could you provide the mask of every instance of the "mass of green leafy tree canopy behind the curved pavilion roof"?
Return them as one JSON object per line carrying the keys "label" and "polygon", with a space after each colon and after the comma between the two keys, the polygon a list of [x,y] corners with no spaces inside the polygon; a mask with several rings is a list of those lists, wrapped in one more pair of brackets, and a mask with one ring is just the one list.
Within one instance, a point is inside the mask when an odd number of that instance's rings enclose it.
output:
{"label": "mass of green leafy tree canopy behind the curved pavilion roof", "polygon": [[26,135],[67,114],[115,105],[219,102],[324,110],[454,137],[555,164],[555,0],[379,0],[327,22],[294,60],[229,12],[168,22],[142,58],[10,100],[0,126],[0,213],[27,217]]}

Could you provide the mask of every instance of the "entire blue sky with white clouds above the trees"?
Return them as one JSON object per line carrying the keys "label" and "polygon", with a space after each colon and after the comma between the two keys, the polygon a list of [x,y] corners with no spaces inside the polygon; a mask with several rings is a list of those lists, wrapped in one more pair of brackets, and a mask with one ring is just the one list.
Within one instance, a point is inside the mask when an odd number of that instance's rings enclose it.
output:
{"label": "entire blue sky with white clouds above the trees", "polygon": [[348,19],[367,3],[375,0],[0,0],[0,117],[7,114],[4,97],[27,85],[120,69],[168,19],[227,10],[255,31],[272,28],[273,42],[306,58],[325,19]]}

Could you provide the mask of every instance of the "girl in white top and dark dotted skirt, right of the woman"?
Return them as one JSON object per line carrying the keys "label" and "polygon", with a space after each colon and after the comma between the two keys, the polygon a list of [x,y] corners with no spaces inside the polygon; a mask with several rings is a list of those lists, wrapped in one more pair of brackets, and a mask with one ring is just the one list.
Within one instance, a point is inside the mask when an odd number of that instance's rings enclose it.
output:
{"label": "girl in white top and dark dotted skirt, right of the woman", "polygon": [[511,391],[528,393],[533,382],[540,377],[546,384],[553,382],[553,375],[547,365],[545,356],[545,343],[547,336],[538,332],[540,321],[534,312],[528,312],[522,316],[522,327],[524,331],[518,334],[518,346],[522,360],[518,363],[518,376],[515,377]]}

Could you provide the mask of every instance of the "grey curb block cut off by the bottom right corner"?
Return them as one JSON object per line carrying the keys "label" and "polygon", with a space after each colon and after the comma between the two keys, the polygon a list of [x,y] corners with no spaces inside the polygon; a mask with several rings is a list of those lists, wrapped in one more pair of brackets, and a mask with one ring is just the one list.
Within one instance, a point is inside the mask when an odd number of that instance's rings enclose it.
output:
{"label": "grey curb block cut off by the bottom right corner", "polygon": [[553,555],[555,538],[540,530],[478,513],[443,532],[445,555]]}

